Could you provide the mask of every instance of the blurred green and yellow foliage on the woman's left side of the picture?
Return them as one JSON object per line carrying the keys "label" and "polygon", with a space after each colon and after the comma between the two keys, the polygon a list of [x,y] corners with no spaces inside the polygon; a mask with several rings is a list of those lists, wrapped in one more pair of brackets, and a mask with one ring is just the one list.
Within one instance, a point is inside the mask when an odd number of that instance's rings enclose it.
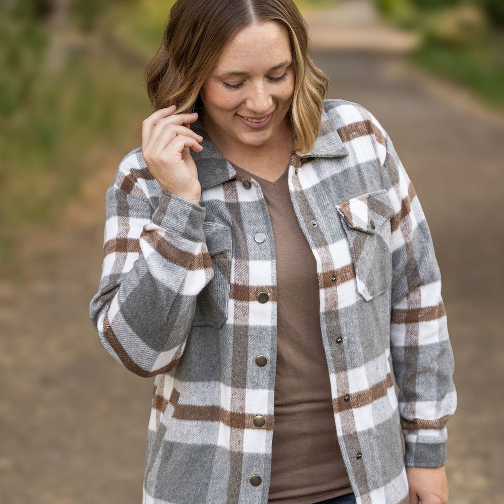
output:
{"label": "blurred green and yellow foliage on the woman's left side of the picture", "polygon": [[0,7],[0,259],[6,264],[20,237],[50,221],[100,169],[92,165],[94,153],[133,148],[125,134],[150,111],[142,72],[171,4],[0,0]]}

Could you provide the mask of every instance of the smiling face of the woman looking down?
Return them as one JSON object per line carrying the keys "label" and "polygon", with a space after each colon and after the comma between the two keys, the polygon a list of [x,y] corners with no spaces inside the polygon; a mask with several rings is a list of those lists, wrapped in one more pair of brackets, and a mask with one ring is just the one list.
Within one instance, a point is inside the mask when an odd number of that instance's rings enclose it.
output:
{"label": "smiling face of the woman looking down", "polygon": [[294,83],[287,29],[273,21],[243,28],[203,84],[205,129],[227,149],[274,142],[289,121]]}

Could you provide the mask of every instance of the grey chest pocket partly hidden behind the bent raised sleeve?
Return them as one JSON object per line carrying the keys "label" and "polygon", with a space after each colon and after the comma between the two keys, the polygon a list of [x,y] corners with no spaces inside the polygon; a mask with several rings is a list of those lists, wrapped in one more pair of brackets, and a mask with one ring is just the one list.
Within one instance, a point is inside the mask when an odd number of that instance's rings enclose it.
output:
{"label": "grey chest pocket partly hidden behind the bent raised sleeve", "polygon": [[231,278],[231,229],[216,222],[204,222],[208,253],[214,277],[198,294],[193,326],[222,327],[227,320]]}

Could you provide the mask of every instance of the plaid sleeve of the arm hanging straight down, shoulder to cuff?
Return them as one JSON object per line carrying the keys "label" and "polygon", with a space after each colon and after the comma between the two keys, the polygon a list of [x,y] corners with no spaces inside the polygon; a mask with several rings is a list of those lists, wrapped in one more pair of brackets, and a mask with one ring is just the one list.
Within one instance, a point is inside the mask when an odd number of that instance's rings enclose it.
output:
{"label": "plaid sleeve of the arm hanging straight down, shoulder to cuff", "polygon": [[405,464],[445,464],[446,422],[455,412],[454,359],[441,297],[441,277],[430,230],[389,135],[385,176],[395,209],[392,229],[392,310],[390,343]]}

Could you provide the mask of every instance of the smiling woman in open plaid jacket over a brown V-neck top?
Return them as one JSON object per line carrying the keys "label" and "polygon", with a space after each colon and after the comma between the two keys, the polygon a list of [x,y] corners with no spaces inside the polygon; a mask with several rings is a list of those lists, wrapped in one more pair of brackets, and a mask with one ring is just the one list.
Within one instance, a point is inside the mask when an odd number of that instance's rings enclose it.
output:
{"label": "smiling woman in open plaid jacket over a brown V-neck top", "polygon": [[91,302],[155,375],[145,503],[447,501],[430,233],[386,131],[324,100],[307,51],[290,0],[178,0],[147,69]]}

